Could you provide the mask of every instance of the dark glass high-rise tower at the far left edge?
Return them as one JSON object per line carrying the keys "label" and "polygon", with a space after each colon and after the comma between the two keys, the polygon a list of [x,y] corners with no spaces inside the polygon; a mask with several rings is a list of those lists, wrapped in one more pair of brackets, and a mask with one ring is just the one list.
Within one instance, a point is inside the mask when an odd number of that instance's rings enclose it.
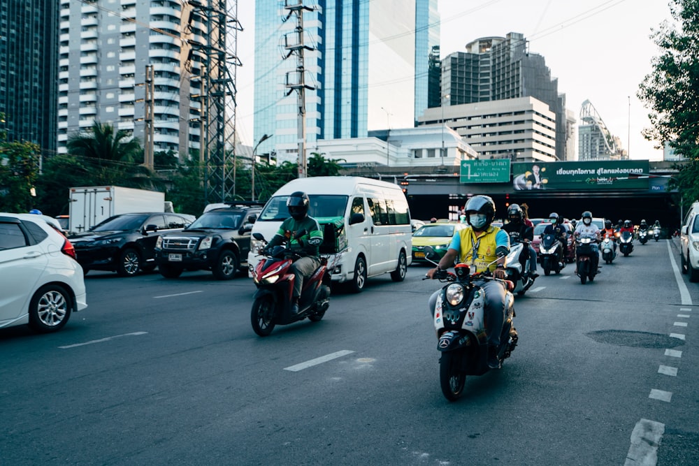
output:
{"label": "dark glass high-rise tower at the far left edge", "polygon": [[56,149],[58,1],[0,0],[0,129]]}

